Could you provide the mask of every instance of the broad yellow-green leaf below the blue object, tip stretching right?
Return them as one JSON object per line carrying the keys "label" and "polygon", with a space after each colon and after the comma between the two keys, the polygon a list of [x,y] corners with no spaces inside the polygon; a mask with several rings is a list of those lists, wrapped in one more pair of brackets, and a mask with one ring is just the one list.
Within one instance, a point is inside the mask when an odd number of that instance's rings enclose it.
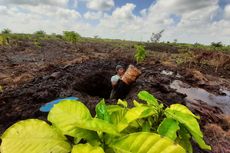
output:
{"label": "broad yellow-green leaf below the blue object, tip stretching right", "polygon": [[75,100],[64,100],[56,104],[48,115],[48,120],[63,134],[75,137],[78,128],[118,135],[115,127],[101,119],[92,118],[85,105]]}

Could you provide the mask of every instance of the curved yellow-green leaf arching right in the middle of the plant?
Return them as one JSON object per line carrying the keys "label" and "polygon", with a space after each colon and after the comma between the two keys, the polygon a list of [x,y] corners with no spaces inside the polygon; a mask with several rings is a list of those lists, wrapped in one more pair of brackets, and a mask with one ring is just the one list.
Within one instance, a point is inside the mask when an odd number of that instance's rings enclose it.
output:
{"label": "curved yellow-green leaf arching right in the middle of the plant", "polygon": [[146,118],[156,114],[157,111],[153,107],[149,107],[149,106],[134,107],[126,112],[124,118],[117,125],[118,130],[119,131],[124,130],[129,126],[131,122],[137,119]]}

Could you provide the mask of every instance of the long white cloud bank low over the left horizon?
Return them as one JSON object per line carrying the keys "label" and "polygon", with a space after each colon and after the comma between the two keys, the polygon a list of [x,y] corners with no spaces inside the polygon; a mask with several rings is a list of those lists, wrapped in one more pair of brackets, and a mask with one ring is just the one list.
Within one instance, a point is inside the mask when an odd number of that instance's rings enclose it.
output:
{"label": "long white cloud bank low over the left horizon", "polygon": [[32,33],[45,30],[48,33],[61,33],[63,30],[72,30],[77,22],[80,23],[80,14],[74,10],[49,5],[38,6],[1,6],[0,18],[3,24],[0,29],[10,28],[14,32]]}

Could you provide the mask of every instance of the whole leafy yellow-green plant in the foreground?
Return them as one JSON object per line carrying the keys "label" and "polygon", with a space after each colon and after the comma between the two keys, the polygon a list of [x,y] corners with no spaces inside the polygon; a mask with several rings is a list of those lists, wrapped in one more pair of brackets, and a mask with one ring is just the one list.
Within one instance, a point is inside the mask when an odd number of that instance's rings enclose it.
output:
{"label": "whole leafy yellow-green plant in the foreground", "polygon": [[29,119],[2,135],[2,153],[185,153],[192,152],[193,138],[202,149],[197,119],[187,107],[174,104],[164,109],[146,91],[128,108],[126,101],[106,105],[101,100],[92,117],[80,101],[63,100],[48,114],[48,123]]}

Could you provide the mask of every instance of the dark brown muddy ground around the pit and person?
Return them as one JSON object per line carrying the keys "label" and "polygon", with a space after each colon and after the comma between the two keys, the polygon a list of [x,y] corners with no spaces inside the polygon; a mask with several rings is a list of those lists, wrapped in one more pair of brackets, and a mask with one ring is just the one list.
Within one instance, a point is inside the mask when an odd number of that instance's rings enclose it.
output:
{"label": "dark brown muddy ground around the pit and person", "polygon": [[[180,55],[178,48],[148,46],[149,56],[142,64],[133,60],[134,47],[116,43],[78,43],[64,41],[41,41],[36,46],[31,41],[0,47],[0,134],[18,120],[28,118],[45,119],[39,107],[46,102],[68,96],[79,97],[94,114],[100,98],[108,99],[117,64],[136,65],[142,75],[132,85],[126,99],[131,102],[140,90],[147,90],[166,106],[173,103],[188,105],[197,115],[205,139],[215,153],[227,153],[230,145],[230,119],[221,108],[197,100],[188,102],[186,95],[170,88],[174,80],[181,80],[215,95],[225,95],[220,89],[230,91],[229,54],[194,51],[194,61],[178,64],[170,55]],[[224,59],[221,67],[202,63],[204,60]],[[218,56],[217,56],[218,55]],[[222,57],[223,56],[223,57]],[[167,57],[167,58],[165,58]],[[162,71],[173,72],[172,75]],[[230,103],[230,97],[229,97]],[[216,130],[215,130],[216,129]],[[194,145],[194,152],[201,151]]]}

